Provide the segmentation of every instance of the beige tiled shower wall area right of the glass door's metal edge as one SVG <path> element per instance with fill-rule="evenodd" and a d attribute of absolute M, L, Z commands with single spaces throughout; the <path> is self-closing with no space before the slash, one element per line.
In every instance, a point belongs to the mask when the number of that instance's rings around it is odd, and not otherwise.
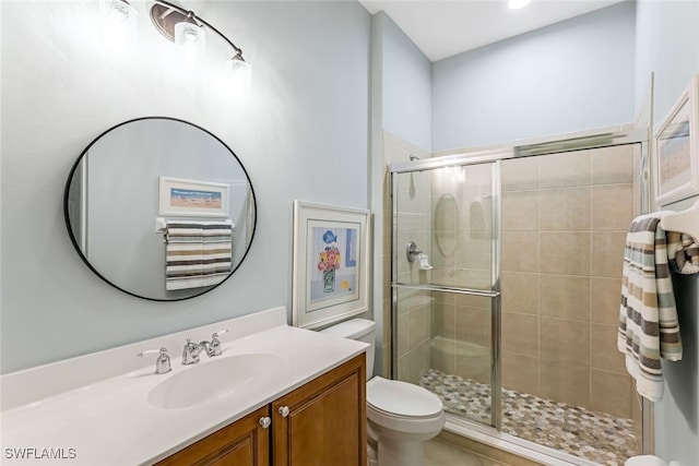
<path fill-rule="evenodd" d="M 502 163 L 503 387 L 624 418 L 636 410 L 616 350 L 633 147 Z"/>

